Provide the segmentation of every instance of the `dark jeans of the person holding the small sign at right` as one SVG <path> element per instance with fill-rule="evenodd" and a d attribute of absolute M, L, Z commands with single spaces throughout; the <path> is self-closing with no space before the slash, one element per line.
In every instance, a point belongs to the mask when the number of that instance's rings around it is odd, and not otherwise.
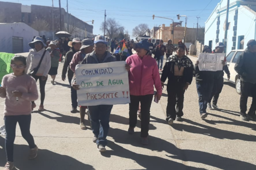
<path fill-rule="evenodd" d="M 200 115 L 206 114 L 207 103 L 210 99 L 214 82 L 209 81 L 196 81 L 197 93 L 199 97 L 199 111 Z"/>

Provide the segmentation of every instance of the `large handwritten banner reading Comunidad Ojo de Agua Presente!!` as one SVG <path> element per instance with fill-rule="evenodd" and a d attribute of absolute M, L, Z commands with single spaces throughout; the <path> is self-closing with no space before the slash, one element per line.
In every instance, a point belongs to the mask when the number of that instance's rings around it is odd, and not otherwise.
<path fill-rule="evenodd" d="M 76 66 L 78 105 L 113 105 L 130 103 L 128 72 L 125 61 Z"/>

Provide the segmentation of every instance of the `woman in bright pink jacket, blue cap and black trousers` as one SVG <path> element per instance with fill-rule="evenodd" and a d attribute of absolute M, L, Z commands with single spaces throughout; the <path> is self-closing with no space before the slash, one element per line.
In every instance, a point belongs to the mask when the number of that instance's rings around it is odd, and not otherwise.
<path fill-rule="evenodd" d="M 156 60 L 149 55 L 149 43 L 147 40 L 133 44 L 137 54 L 126 59 L 130 66 L 130 108 L 129 108 L 129 134 L 134 133 L 137 124 L 137 111 L 141 103 L 141 137 L 142 144 L 148 144 L 148 131 L 150 119 L 150 107 L 154 96 L 154 85 L 156 88 L 155 97 L 160 100 L 162 96 L 161 80 Z"/>

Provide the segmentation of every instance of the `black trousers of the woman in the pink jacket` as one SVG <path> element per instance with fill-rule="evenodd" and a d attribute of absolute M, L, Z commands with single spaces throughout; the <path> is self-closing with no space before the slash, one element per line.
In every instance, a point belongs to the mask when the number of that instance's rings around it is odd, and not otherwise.
<path fill-rule="evenodd" d="M 137 124 L 137 111 L 139 102 L 141 102 L 141 137 L 149 135 L 149 119 L 150 108 L 153 100 L 153 95 L 133 96 L 130 95 L 131 103 L 129 104 L 129 125 L 132 128 Z"/>

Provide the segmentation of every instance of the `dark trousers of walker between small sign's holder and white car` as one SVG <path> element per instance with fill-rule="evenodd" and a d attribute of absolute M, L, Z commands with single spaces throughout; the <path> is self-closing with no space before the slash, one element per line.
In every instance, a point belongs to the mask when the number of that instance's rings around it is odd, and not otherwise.
<path fill-rule="evenodd" d="M 224 85 L 223 77 L 214 79 L 214 87 L 212 88 L 211 96 L 208 103 L 211 103 L 211 99 L 213 98 L 212 104 L 217 105 L 218 97 L 220 97 L 220 93 L 222 91 L 223 85 Z"/>

